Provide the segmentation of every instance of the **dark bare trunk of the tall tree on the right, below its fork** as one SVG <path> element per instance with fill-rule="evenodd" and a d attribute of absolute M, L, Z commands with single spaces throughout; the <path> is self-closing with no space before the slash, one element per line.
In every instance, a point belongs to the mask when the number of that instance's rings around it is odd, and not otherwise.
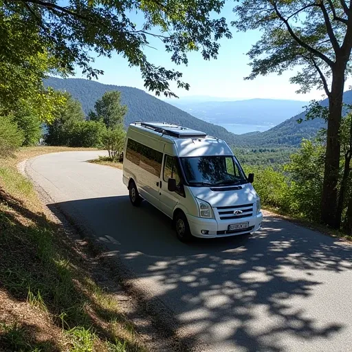
<path fill-rule="evenodd" d="M 331 94 L 329 96 L 329 120 L 327 122 L 327 152 L 325 157 L 324 183 L 322 186 L 323 223 L 338 228 L 337 198 L 338 178 L 340 167 L 340 140 L 339 130 L 342 116 L 342 96 L 344 91 L 344 71 L 346 63 L 338 63 L 333 68 Z"/>

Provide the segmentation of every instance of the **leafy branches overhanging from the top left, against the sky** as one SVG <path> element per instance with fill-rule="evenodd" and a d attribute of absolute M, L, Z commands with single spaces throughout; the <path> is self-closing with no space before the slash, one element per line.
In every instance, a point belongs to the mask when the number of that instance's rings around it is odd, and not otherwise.
<path fill-rule="evenodd" d="M 216 58 L 221 37 L 231 37 L 224 18 L 214 18 L 223 7 L 223 0 L 18 0 L 1 1 L 0 17 L 17 17 L 22 28 L 38 32 L 39 42 L 57 67 L 74 74 L 74 67 L 89 77 L 101 74 L 93 69 L 89 51 L 111 57 L 117 52 L 131 67 L 139 67 L 144 86 L 174 96 L 169 82 L 188 89 L 182 74 L 150 63 L 144 47 L 150 39 L 161 41 L 171 60 L 187 64 L 187 53 L 201 51 L 204 59 Z M 131 14 L 143 15 L 144 23 L 136 25 Z M 3 23 L 0 23 L 0 26 Z M 154 31 L 153 31 L 154 30 Z M 19 31 L 20 32 L 20 31 Z M 22 50 L 31 50 L 32 41 L 23 41 Z M 15 55 L 11 60 L 16 60 Z"/>

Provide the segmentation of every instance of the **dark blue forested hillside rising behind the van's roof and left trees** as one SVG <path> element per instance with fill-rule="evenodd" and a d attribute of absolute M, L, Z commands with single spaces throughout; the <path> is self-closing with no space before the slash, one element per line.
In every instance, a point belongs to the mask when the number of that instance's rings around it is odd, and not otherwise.
<path fill-rule="evenodd" d="M 134 121 L 164 121 L 174 124 L 181 124 L 190 129 L 197 129 L 214 135 L 229 143 L 234 143 L 236 135 L 226 131 L 223 127 L 199 120 L 194 116 L 159 100 L 145 91 L 132 87 L 120 87 L 116 85 L 103 85 L 93 80 L 80 78 L 48 78 L 45 85 L 54 89 L 69 91 L 70 94 L 78 99 L 85 113 L 94 109 L 94 103 L 100 99 L 106 91 L 121 91 L 122 104 L 129 108 L 125 116 L 125 124 Z"/>

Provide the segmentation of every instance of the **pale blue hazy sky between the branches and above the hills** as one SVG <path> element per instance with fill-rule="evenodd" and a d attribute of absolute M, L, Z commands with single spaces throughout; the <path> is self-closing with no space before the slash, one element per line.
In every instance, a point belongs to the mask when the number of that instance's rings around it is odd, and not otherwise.
<path fill-rule="evenodd" d="M 234 19 L 232 12 L 233 2 L 227 3 L 222 15 L 228 23 Z M 140 18 L 135 17 L 138 23 Z M 190 84 L 190 90 L 173 89 L 179 96 L 213 96 L 221 98 L 248 99 L 248 98 L 277 98 L 311 100 L 320 99 L 323 91 L 311 91 L 309 94 L 295 93 L 297 86 L 289 83 L 289 77 L 294 72 L 285 72 L 282 76 L 272 74 L 255 80 L 243 80 L 250 74 L 249 58 L 245 54 L 260 37 L 259 32 L 237 33 L 231 28 L 233 38 L 223 39 L 217 60 L 204 61 L 200 52 L 193 52 L 188 56 L 188 66 L 173 65 L 170 54 L 164 52 L 162 43 L 157 39 L 150 39 L 152 46 L 157 50 L 146 47 L 148 60 L 166 68 L 175 68 L 184 74 L 184 81 Z M 100 83 L 109 85 L 126 85 L 144 89 L 140 70 L 130 68 L 122 56 L 113 55 L 112 58 L 96 58 L 94 67 L 103 69 Z M 77 72 L 76 77 L 81 77 Z M 347 89 L 348 85 L 346 86 Z M 345 89 L 345 90 L 346 90 Z"/>

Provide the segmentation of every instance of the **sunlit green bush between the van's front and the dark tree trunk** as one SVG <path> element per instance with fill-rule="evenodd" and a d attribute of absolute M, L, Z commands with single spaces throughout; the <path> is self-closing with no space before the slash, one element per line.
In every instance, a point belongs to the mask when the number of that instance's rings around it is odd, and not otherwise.
<path fill-rule="evenodd" d="M 304 140 L 284 169 L 246 166 L 245 170 L 255 173 L 253 186 L 263 206 L 319 221 L 324 155 L 320 142 Z"/>

